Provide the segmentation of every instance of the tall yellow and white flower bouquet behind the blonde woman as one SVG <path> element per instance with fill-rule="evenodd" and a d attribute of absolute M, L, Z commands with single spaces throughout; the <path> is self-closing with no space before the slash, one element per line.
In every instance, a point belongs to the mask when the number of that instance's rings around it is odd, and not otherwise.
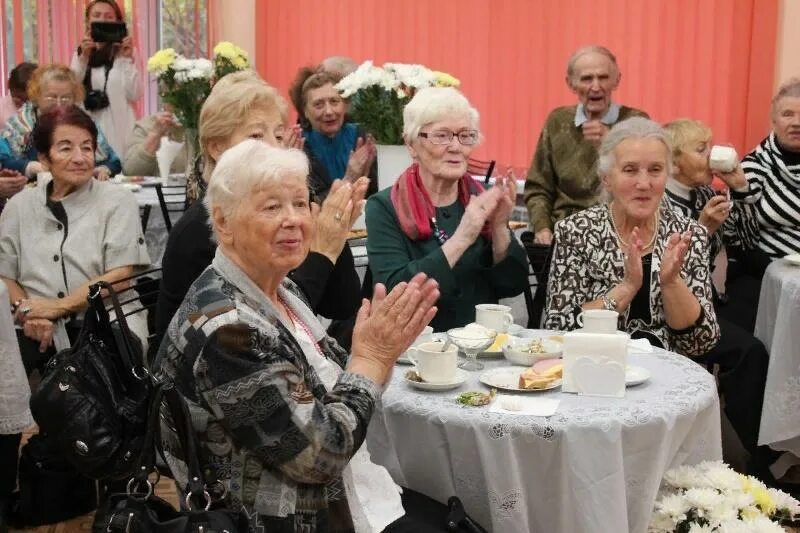
<path fill-rule="evenodd" d="M 231 72 L 249 67 L 247 53 L 233 43 L 222 41 L 214 47 L 211 60 L 189 59 L 172 48 L 159 50 L 147 61 L 147 70 L 158 80 L 161 100 L 172 107 L 184 129 L 186 143 L 186 198 L 192 202 L 202 195 L 200 109 L 213 83 Z"/>

